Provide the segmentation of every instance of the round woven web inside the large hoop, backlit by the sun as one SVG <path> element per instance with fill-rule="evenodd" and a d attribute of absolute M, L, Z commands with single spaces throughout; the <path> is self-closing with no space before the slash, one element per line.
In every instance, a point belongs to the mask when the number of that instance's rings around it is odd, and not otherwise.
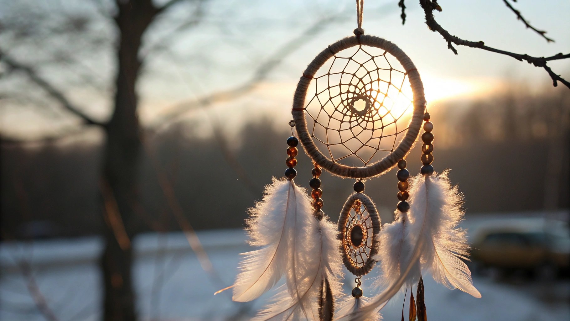
<path fill-rule="evenodd" d="M 331 57 L 311 80 L 305 110 L 315 145 L 334 162 L 367 166 L 392 152 L 408 130 L 412 90 L 404 67 L 376 47 Z"/>

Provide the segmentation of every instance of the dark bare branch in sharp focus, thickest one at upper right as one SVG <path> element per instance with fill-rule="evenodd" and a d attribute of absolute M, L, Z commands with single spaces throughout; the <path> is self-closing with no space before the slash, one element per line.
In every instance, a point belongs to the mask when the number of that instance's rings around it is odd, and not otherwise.
<path fill-rule="evenodd" d="M 550 78 L 552 78 L 552 84 L 554 87 L 558 86 L 557 82 L 561 82 L 566 87 L 570 88 L 570 82 L 568 82 L 567 80 L 564 80 L 560 75 L 555 74 L 555 72 L 553 72 L 551 70 L 551 68 L 547 66 L 548 61 L 567 59 L 567 58 L 570 58 L 570 54 L 562 54 L 560 52 L 559 54 L 549 56 L 546 58 L 545 57 L 534 57 L 534 56 L 530 56 L 527 54 L 516 54 L 514 52 L 488 47 L 488 46 L 485 46 L 485 43 L 482 41 L 474 42 L 474 41 L 464 40 L 464 39 L 461 39 L 457 36 L 451 35 L 447 30 L 443 29 L 443 27 L 440 26 L 439 23 L 437 23 L 435 21 L 435 18 L 433 17 L 433 10 L 437 10 L 437 7 L 438 7 L 437 2 L 430 1 L 430 0 L 420 0 L 420 5 L 424 9 L 426 24 L 429 27 L 429 29 L 431 31 L 438 32 L 440 35 L 442 35 L 443 39 L 445 39 L 447 41 L 447 48 L 449 48 L 451 51 L 453 51 L 454 54 L 457 55 L 457 50 L 455 49 L 455 47 L 453 47 L 453 44 L 457 44 L 459 46 L 479 48 L 479 49 L 486 50 L 486 51 L 496 52 L 497 54 L 511 56 L 512 58 L 515 58 L 516 60 L 526 61 L 530 64 L 533 64 L 536 67 L 544 68 L 544 70 L 546 72 L 548 72 L 548 75 L 550 76 Z"/>

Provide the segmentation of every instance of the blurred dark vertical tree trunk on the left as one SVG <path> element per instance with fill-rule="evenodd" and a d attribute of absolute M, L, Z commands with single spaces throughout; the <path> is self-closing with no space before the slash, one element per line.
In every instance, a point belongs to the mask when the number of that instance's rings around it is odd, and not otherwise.
<path fill-rule="evenodd" d="M 121 3 L 116 23 L 119 29 L 115 110 L 107 124 L 107 141 L 101 177 L 105 204 L 105 249 L 101 257 L 105 321 L 134 321 L 135 293 L 132 285 L 133 253 L 130 243 L 136 233 L 133 204 L 138 202 L 136 185 L 141 161 L 141 133 L 137 118 L 136 83 L 141 61 L 141 38 L 156 14 L 150 0 Z M 105 195 L 106 194 L 106 195 Z"/>

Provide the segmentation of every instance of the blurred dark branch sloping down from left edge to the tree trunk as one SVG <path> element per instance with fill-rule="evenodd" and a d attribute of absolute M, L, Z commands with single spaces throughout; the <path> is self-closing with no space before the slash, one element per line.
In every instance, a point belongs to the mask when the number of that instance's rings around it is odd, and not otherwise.
<path fill-rule="evenodd" d="M 72 104 L 71 101 L 68 100 L 67 97 L 63 94 L 63 92 L 59 91 L 57 88 L 55 88 L 45 79 L 43 79 L 40 75 L 38 75 L 38 73 L 33 68 L 17 62 L 16 60 L 10 58 L 10 56 L 6 55 L 6 53 L 3 51 L 0 51 L 0 56 L 2 57 L 2 60 L 8 66 L 10 66 L 10 68 L 24 72 L 32 80 L 32 82 L 36 83 L 39 87 L 42 87 L 43 90 L 45 90 L 48 94 L 50 94 L 51 97 L 59 101 L 59 103 L 62 104 L 64 108 L 73 113 L 75 116 L 78 116 L 81 119 L 83 119 L 85 124 L 99 125 L 101 127 L 105 126 L 104 123 L 92 119 L 86 113 L 81 111 L 80 108 Z"/>

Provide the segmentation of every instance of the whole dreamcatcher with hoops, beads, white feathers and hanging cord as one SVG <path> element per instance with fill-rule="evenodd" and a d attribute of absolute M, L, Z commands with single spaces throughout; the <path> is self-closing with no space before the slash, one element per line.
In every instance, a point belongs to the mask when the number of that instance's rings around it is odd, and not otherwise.
<path fill-rule="evenodd" d="M 244 254 L 233 300 L 253 300 L 283 275 L 286 281 L 254 320 L 378 320 L 378 311 L 404 286 L 417 287 L 410 319 L 425 320 L 425 272 L 450 289 L 481 296 L 462 261 L 468 250 L 465 233 L 456 228 L 462 197 L 447 171 L 435 173 L 431 165 L 433 124 L 420 74 L 395 44 L 364 34 L 363 0 L 356 3 L 355 35 L 321 51 L 299 80 L 290 121 L 298 137 L 287 139 L 285 177 L 274 178 L 250 210 L 250 244 L 260 249 Z M 422 124 L 423 165 L 410 178 L 405 156 Z M 314 163 L 311 197 L 294 182 L 299 142 Z M 394 222 L 381 229 L 364 180 L 394 166 L 399 202 Z M 322 169 L 356 179 L 336 226 L 322 209 Z M 367 298 L 361 277 L 377 262 L 384 289 Z M 356 286 L 339 300 L 343 263 Z"/>

